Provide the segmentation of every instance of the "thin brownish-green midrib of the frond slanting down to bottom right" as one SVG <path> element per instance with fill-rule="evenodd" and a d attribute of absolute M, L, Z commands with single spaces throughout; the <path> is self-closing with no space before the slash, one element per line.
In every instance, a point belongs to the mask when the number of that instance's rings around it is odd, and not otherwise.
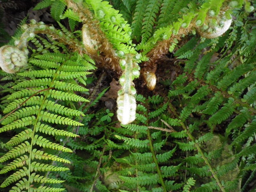
<path fill-rule="evenodd" d="M 177 114 L 176 110 L 174 109 L 174 107 L 172 106 L 172 104 L 169 102 L 169 107 L 171 108 L 172 112 L 174 113 L 174 115 L 179 118 L 179 115 Z M 210 172 L 212 173 L 213 178 L 216 180 L 217 185 L 220 187 L 220 190 L 222 192 L 225 192 L 224 187 L 221 185 L 219 178 L 217 177 L 216 173 L 213 171 L 212 166 L 210 165 L 210 163 L 208 162 L 207 158 L 204 156 L 204 152 L 202 151 L 202 149 L 200 148 L 200 146 L 198 145 L 198 143 L 196 143 L 195 138 L 193 137 L 193 135 L 189 132 L 189 130 L 187 129 L 186 125 L 181 121 L 180 125 L 182 126 L 182 128 L 184 130 L 187 131 L 188 137 L 195 143 L 195 147 L 197 149 L 197 151 L 201 154 L 202 158 L 204 159 L 204 163 L 209 167 Z"/>

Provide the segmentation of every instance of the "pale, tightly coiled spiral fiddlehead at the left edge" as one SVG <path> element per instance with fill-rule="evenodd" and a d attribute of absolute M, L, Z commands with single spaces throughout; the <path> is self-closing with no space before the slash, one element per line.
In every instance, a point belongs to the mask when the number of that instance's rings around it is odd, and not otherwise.
<path fill-rule="evenodd" d="M 0 67 L 6 73 L 17 73 L 27 65 L 28 55 L 11 45 L 0 48 Z"/>

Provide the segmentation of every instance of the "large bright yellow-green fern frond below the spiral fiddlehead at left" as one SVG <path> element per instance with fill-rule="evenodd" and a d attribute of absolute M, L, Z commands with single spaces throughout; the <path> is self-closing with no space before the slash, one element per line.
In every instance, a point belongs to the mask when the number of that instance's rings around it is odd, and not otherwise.
<path fill-rule="evenodd" d="M 40 43 L 36 42 L 36 44 L 39 45 Z M 47 44 L 40 44 L 40 47 L 41 46 L 43 46 L 44 48 L 44 46 L 47 47 Z M 72 56 L 69 55 L 69 57 L 72 58 L 73 62 L 76 62 L 76 60 L 79 59 L 79 57 L 81 56 L 73 54 Z M 46 139 L 45 135 L 78 137 L 77 134 L 64 130 L 59 130 L 53 128 L 52 126 L 81 126 L 83 125 L 82 123 L 72 120 L 71 118 L 73 116 L 84 116 L 84 114 L 78 110 L 70 108 L 70 106 L 68 106 L 65 102 L 62 104 L 57 104 L 55 103 L 55 101 L 53 101 L 53 99 L 57 98 L 60 101 L 88 101 L 83 97 L 74 94 L 74 91 L 87 92 L 88 89 L 82 87 L 81 85 L 78 85 L 73 79 L 79 76 L 88 75 L 89 72 L 87 72 L 86 62 L 84 62 L 84 64 L 78 66 L 84 67 L 84 72 L 80 72 L 80 75 L 76 74 L 74 76 L 74 72 L 64 72 L 64 74 L 63 72 L 60 73 L 60 68 L 68 65 L 69 62 L 66 62 L 63 59 L 60 60 L 59 58 L 68 59 L 68 54 L 67 56 L 64 56 L 60 53 L 52 54 L 48 52 L 48 55 L 44 55 L 41 60 L 33 60 L 33 58 L 31 58 L 31 61 L 33 61 L 31 62 L 31 64 L 40 63 L 43 65 L 43 63 L 49 61 L 47 58 L 50 59 L 53 63 L 60 62 L 59 66 L 56 66 L 57 70 L 53 69 L 54 65 L 53 68 L 50 68 L 50 66 L 45 66 L 45 68 L 47 68 L 45 70 L 41 70 L 40 68 L 38 68 L 37 65 L 31 66 L 35 68 L 33 73 L 23 72 L 20 74 L 21 78 L 22 76 L 26 76 L 31 79 L 15 84 L 12 87 L 14 92 L 8 98 L 10 104 L 6 108 L 8 110 L 5 110 L 6 113 L 13 109 L 20 109 L 5 117 L 4 121 L 2 121 L 2 124 L 4 124 L 4 126 L 0 128 L 1 132 L 19 129 L 23 129 L 24 131 L 18 132 L 19 134 L 15 135 L 11 138 L 9 142 L 7 142 L 7 145 L 13 146 L 13 149 L 0 158 L 1 162 L 8 161 L 10 159 L 14 159 L 14 161 L 7 165 L 2 170 L 2 173 L 15 170 L 16 168 L 19 168 L 21 164 L 22 169 L 10 175 L 2 183 L 1 187 L 7 187 L 12 183 L 17 183 L 16 187 L 13 187 L 12 190 L 22 190 L 24 186 L 26 186 L 28 191 L 35 190 L 35 188 L 37 188 L 36 190 L 41 190 L 40 183 L 62 183 L 63 180 L 40 176 L 37 175 L 36 172 L 60 172 L 68 170 L 68 168 L 65 167 L 44 164 L 37 161 L 43 158 L 52 161 L 70 163 L 70 161 L 63 158 L 44 153 L 40 150 L 40 148 L 49 148 L 57 151 L 72 152 L 71 149 L 63 147 L 60 144 L 51 142 L 50 140 Z M 73 68 L 75 69 L 76 67 L 73 66 Z M 44 87 L 44 91 L 41 91 L 42 88 L 40 89 L 40 87 Z M 29 92 L 26 92 L 26 90 L 34 90 L 34 92 L 32 92 L 31 94 Z M 33 94 L 37 94 L 37 96 L 33 96 Z M 22 97 L 24 97 L 24 99 L 20 99 Z M 27 107 L 24 107 L 23 104 L 25 104 L 25 106 Z M 42 155 L 44 157 L 42 157 Z M 28 180 L 26 180 L 26 177 L 28 177 Z M 30 187 L 33 186 L 32 183 L 34 185 L 33 188 Z M 50 189 L 44 187 L 44 190 L 60 191 L 62 189 Z"/>

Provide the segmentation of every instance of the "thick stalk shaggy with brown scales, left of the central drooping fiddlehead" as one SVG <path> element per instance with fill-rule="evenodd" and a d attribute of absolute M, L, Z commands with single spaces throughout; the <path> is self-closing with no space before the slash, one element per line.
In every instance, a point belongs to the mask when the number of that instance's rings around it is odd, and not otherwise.
<path fill-rule="evenodd" d="M 108 41 L 103 31 L 100 29 L 99 21 L 93 20 L 92 12 L 85 8 L 82 4 L 76 4 L 71 0 L 65 0 L 68 8 L 71 8 L 79 15 L 83 21 L 84 28 L 92 41 L 96 42 L 95 50 L 88 49 L 86 53 L 95 60 L 100 67 L 109 68 L 117 74 L 121 74 L 119 58 L 115 56 L 115 50 L 112 44 Z M 100 52 L 100 56 L 97 54 Z"/>

